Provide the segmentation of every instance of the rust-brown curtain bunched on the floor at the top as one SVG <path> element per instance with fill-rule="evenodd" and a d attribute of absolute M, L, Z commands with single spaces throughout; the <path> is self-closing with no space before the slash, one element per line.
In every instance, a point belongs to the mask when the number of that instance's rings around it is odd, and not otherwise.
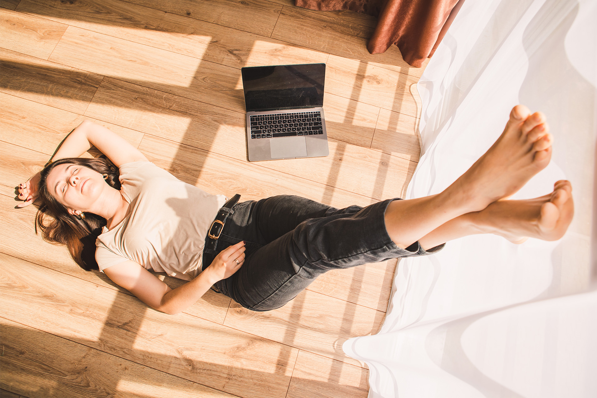
<path fill-rule="evenodd" d="M 398 46 L 410 66 L 431 57 L 464 0 L 296 0 L 311 10 L 352 10 L 378 17 L 367 44 L 371 54 Z"/>

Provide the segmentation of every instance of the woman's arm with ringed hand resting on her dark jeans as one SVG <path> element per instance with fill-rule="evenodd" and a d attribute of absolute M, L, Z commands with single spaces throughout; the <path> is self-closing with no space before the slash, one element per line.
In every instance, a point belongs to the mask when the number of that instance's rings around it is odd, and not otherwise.
<path fill-rule="evenodd" d="M 108 267 L 104 273 L 148 306 L 167 314 L 177 314 L 195 304 L 214 283 L 235 273 L 245 261 L 244 252 L 244 242 L 224 249 L 199 276 L 176 289 L 171 289 L 134 261 Z"/>

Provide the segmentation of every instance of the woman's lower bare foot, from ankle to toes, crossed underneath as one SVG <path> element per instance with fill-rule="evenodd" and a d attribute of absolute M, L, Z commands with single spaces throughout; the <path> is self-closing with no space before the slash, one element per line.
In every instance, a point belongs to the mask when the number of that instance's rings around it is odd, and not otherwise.
<path fill-rule="evenodd" d="M 574 215 L 572 186 L 561 180 L 553 192 L 527 200 L 498 200 L 478 213 L 478 226 L 485 233 L 494 233 L 513 243 L 527 237 L 558 240 L 568 229 Z"/>

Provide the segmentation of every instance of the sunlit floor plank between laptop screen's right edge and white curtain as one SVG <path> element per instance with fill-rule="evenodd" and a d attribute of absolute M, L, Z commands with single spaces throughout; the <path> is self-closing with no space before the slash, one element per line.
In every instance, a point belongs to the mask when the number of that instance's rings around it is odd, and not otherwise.
<path fill-rule="evenodd" d="M 405 73 L 330 55 L 325 90 L 343 92 L 352 100 L 418 118 L 420 107 L 410 92 L 410 86 L 417 81 Z"/>

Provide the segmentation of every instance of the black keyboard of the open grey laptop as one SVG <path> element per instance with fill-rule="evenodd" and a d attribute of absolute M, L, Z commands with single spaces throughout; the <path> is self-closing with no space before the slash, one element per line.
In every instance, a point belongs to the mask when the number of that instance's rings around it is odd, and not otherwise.
<path fill-rule="evenodd" d="M 319 111 L 251 115 L 251 138 L 317 134 L 324 134 Z"/>

